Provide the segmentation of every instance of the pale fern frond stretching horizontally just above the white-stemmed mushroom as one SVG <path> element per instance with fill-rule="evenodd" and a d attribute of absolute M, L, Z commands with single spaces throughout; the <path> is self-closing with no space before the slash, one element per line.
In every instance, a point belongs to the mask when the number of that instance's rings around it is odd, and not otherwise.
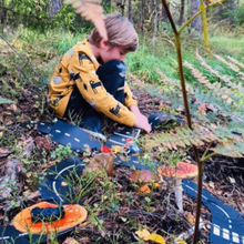
<path fill-rule="evenodd" d="M 145 138 L 145 146 L 148 150 L 156 148 L 167 148 L 170 150 L 179 150 L 179 148 L 190 148 L 191 145 L 204 146 L 210 143 L 216 146 L 209 149 L 217 154 L 243 157 L 244 143 L 243 138 L 235 135 L 232 130 L 226 130 L 221 125 L 209 125 L 203 128 L 196 125 L 194 131 L 187 126 L 179 126 L 169 132 L 161 132 L 157 135 Z"/>

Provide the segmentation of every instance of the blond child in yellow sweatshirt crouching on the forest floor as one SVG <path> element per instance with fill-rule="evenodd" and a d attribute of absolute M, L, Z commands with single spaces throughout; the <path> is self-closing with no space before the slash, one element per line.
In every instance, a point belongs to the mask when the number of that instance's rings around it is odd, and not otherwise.
<path fill-rule="evenodd" d="M 125 82 L 124 58 L 138 48 L 132 23 L 121 14 L 105 18 L 108 41 L 94 28 L 58 64 L 50 83 L 50 106 L 62 118 L 81 118 L 80 126 L 101 135 L 103 114 L 150 133 L 151 125 Z"/>

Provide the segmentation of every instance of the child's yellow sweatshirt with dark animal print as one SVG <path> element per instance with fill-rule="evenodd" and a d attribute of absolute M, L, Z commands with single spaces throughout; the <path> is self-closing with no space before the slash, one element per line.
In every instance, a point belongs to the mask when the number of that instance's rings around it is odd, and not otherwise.
<path fill-rule="evenodd" d="M 119 123 L 132 126 L 135 115 L 128 108 L 138 104 L 138 101 L 133 99 L 126 82 L 124 85 L 125 105 L 109 94 L 95 73 L 99 65 L 89 42 L 87 40 L 78 42 L 63 55 L 51 78 L 50 106 L 58 115 L 63 116 L 73 87 L 77 85 L 82 96 L 96 111 Z"/>

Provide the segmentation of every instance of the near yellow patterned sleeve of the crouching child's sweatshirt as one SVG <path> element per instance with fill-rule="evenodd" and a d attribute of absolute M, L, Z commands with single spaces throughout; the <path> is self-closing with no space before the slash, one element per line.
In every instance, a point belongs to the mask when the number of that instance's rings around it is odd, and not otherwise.
<path fill-rule="evenodd" d="M 95 67 L 91 57 L 89 58 L 82 54 L 82 52 L 74 52 L 69 61 L 68 70 L 82 96 L 91 106 L 119 123 L 133 126 L 135 115 L 106 92 L 95 73 Z M 130 89 L 126 88 L 126 91 L 130 98 L 125 103 L 128 105 L 133 102 Z"/>

